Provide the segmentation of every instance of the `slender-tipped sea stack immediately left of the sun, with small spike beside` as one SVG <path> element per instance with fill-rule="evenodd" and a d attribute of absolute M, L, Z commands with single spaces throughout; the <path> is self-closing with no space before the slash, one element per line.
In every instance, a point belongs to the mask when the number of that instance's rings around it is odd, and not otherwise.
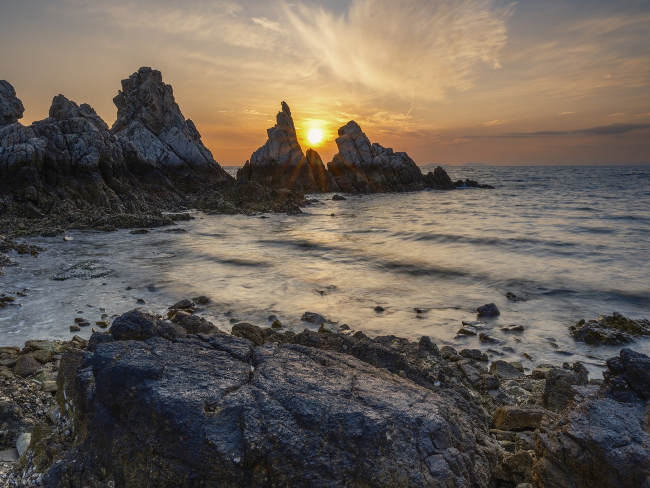
<path fill-rule="evenodd" d="M 277 124 L 266 131 L 266 143 L 237 171 L 237 180 L 303 193 L 334 191 L 333 178 L 318 153 L 309 149 L 307 156 L 303 154 L 287 103 L 282 102 L 276 121 Z"/>

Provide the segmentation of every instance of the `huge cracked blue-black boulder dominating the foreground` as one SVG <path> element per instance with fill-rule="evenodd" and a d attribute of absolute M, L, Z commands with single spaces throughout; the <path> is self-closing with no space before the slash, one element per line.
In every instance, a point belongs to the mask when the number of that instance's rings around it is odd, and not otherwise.
<path fill-rule="evenodd" d="M 489 439 L 453 396 L 350 355 L 154 336 L 97 344 L 59 383 L 76 441 L 45 485 L 493 484 Z"/>

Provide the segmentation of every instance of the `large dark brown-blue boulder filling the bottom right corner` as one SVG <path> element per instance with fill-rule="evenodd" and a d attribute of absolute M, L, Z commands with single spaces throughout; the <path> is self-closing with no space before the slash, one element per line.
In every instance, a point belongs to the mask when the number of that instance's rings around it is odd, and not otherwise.
<path fill-rule="evenodd" d="M 646 487 L 650 483 L 650 358 L 630 349 L 608 360 L 603 386 L 575 386 L 570 408 L 540 433 L 539 488 Z"/>

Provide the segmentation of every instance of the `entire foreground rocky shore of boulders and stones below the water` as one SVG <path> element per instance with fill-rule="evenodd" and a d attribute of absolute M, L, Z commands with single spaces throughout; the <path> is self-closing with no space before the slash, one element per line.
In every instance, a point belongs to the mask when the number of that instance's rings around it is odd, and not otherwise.
<path fill-rule="evenodd" d="M 3 486 L 650 483 L 647 355 L 621 349 L 590 379 L 313 312 L 298 334 L 277 319 L 227 334 L 208 301 L 0 348 Z"/>

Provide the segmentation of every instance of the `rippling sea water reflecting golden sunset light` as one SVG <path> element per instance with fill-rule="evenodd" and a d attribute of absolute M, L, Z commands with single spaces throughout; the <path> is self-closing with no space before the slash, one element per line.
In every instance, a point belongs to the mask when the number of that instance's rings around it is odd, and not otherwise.
<path fill-rule="evenodd" d="M 47 251 L 14 256 L 21 267 L 0 277 L 1 291 L 29 290 L 23 306 L 0 310 L 0 343 L 69 338 L 75 316 L 94 323 L 99 308 L 112 316 L 137 299 L 162 313 L 207 295 L 213 303 L 201 314 L 226 331 L 238 320 L 267 327 L 270 314 L 294 331 L 316 329 L 300 320 L 309 310 L 369 336 L 426 334 L 438 346 L 480 347 L 526 368 L 580 360 L 598 376 L 620 347 L 577 343 L 569 326 L 614 311 L 650 318 L 650 167 L 447 170 L 496 189 L 314 195 L 320 202 L 303 215 L 196 213 L 179 223 L 185 234 L 28 239 Z M 85 260 L 113 273 L 49 279 Z M 509 301 L 508 291 L 525 300 Z M 476 307 L 490 302 L 501 315 L 486 319 L 489 334 L 504 344 L 456 337 L 461 320 L 476 320 Z M 500 331 L 513 324 L 525 331 Z M 650 354 L 649 340 L 630 347 Z"/>

